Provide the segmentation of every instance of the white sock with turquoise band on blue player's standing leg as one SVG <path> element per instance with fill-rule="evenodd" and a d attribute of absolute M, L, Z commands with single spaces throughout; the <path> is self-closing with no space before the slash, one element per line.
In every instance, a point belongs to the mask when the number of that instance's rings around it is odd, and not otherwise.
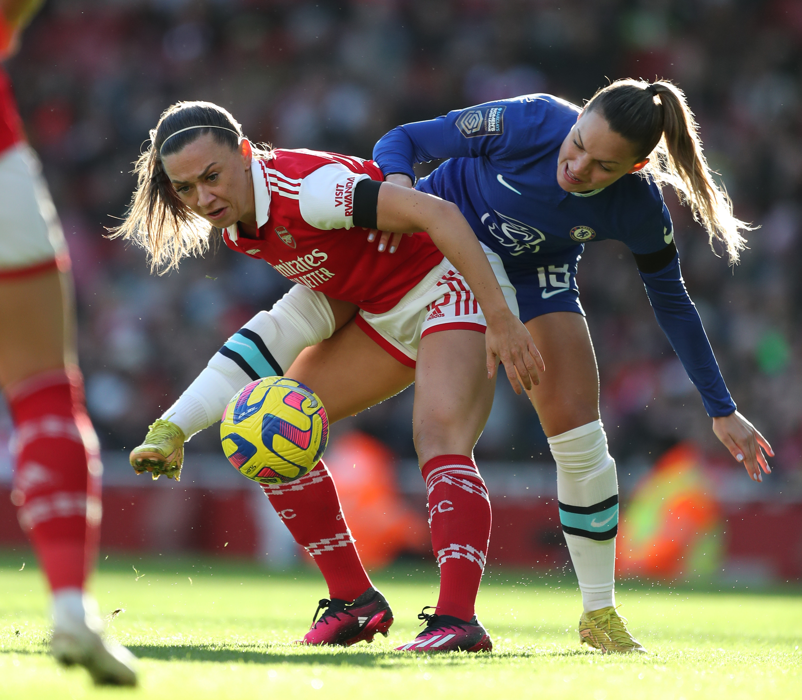
<path fill-rule="evenodd" d="M 565 543 L 585 612 L 615 604 L 618 479 L 602 421 L 549 437 Z"/>

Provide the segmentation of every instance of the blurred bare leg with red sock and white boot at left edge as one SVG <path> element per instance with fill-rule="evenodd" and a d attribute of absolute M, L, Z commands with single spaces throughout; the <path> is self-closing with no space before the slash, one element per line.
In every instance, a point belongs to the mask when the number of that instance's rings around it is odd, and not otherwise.
<path fill-rule="evenodd" d="M 12 499 L 53 592 L 52 652 L 86 666 L 95 682 L 133 685 L 131 653 L 101 639 L 97 606 L 83 592 L 99 538 L 102 468 L 75 364 L 69 275 L 0 273 L 0 319 L 0 385 L 18 432 Z"/>

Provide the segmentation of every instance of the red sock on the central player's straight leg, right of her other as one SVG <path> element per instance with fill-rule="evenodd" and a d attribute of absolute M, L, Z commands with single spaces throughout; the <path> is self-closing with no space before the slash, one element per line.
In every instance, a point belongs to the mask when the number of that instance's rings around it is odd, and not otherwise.
<path fill-rule="evenodd" d="M 476 464 L 441 454 L 423 465 L 431 546 L 440 568 L 438 615 L 469 621 L 490 540 L 490 499 Z"/>

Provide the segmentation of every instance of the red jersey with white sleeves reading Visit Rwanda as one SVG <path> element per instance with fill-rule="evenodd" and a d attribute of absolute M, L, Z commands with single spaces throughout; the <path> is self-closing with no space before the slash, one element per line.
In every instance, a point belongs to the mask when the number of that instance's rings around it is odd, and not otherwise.
<path fill-rule="evenodd" d="M 428 234 L 404 238 L 387 254 L 367 241 L 367 229 L 354 226 L 356 184 L 384 180 L 373 161 L 306 149 L 270 155 L 251 164 L 258 238 L 229 226 L 223 234 L 229 248 L 373 314 L 390 311 L 443 260 Z"/>

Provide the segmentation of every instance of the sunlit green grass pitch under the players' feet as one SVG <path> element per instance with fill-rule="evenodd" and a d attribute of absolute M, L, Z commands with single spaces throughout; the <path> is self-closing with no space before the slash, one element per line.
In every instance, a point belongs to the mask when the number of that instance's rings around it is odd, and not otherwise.
<path fill-rule="evenodd" d="M 92 588 L 104 613 L 124 608 L 110 633 L 140 657 L 141 683 L 99 690 L 83 669 L 61 669 L 47 656 L 42 576 L 30 554 L 7 554 L 0 557 L 0 698 L 802 696 L 798 588 L 690 591 L 625 582 L 621 612 L 650 653 L 602 656 L 577 642 L 575 581 L 489 569 L 478 610 L 493 653 L 437 655 L 392 651 L 417 632 L 420 608 L 435 603 L 435 569 L 399 566 L 375 582 L 395 612 L 389 639 L 298 648 L 292 642 L 326 594 L 313 572 L 111 555 Z"/>

